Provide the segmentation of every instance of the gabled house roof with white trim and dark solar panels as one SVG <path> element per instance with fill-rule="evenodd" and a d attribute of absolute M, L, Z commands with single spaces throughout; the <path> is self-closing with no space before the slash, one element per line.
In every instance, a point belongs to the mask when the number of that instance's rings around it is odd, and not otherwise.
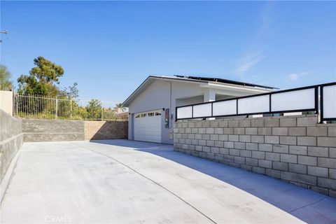
<path fill-rule="evenodd" d="M 266 90 L 274 90 L 277 89 L 276 87 L 270 87 L 266 85 L 257 85 L 253 83 L 243 83 L 235 80 L 228 80 L 224 78 L 207 78 L 207 77 L 198 77 L 198 76 L 148 76 L 146 80 L 144 80 L 139 87 L 137 87 L 134 92 L 128 97 L 125 102 L 123 102 L 123 106 L 127 107 L 130 106 L 131 102 L 144 90 L 146 90 L 146 87 L 148 85 L 151 85 L 154 80 L 157 79 L 164 79 L 164 80 L 175 80 L 175 81 L 181 81 L 181 82 L 196 82 L 196 83 L 215 83 L 218 85 L 239 85 L 239 86 L 245 86 L 245 87 L 255 87 L 255 88 L 262 88 Z"/>

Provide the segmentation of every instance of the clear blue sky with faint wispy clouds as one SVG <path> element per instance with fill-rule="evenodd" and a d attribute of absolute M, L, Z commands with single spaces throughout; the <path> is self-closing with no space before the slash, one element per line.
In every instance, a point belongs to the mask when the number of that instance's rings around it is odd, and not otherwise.
<path fill-rule="evenodd" d="M 122 102 L 151 74 L 286 89 L 336 80 L 335 1 L 1 1 L 1 64 L 63 66 L 61 86 Z"/>

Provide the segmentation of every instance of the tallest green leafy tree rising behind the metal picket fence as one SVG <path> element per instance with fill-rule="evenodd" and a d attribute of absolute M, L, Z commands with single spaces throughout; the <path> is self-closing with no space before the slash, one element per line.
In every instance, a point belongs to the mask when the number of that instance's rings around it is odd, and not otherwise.
<path fill-rule="evenodd" d="M 22 94 L 53 95 L 59 94 L 59 77 L 63 76 L 62 66 L 50 62 L 44 57 L 34 59 L 34 68 L 29 75 L 21 75 L 18 78 L 19 92 Z"/>

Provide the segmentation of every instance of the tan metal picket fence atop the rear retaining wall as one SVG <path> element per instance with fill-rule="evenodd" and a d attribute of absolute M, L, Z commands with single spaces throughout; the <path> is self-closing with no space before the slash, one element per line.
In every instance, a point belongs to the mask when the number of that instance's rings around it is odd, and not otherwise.
<path fill-rule="evenodd" d="M 35 119 L 63 120 L 128 120 L 128 110 L 119 102 L 99 99 L 71 99 L 15 93 L 15 116 Z"/>

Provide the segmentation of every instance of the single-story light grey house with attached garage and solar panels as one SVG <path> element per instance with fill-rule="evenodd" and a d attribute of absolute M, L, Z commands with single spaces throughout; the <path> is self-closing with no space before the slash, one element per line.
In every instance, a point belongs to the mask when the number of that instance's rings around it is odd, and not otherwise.
<path fill-rule="evenodd" d="M 173 144 L 175 107 L 270 92 L 274 87 L 223 78 L 148 76 L 128 97 L 128 138 Z"/>

